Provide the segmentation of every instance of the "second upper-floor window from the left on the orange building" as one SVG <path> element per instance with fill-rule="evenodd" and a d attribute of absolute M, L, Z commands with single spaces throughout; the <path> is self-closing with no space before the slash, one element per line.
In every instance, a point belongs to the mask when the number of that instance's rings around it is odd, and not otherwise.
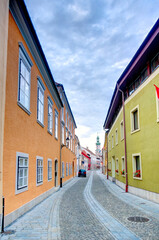
<path fill-rule="evenodd" d="M 41 79 L 38 77 L 38 92 L 37 92 L 37 120 L 38 123 L 44 124 L 44 91 L 45 87 Z"/>

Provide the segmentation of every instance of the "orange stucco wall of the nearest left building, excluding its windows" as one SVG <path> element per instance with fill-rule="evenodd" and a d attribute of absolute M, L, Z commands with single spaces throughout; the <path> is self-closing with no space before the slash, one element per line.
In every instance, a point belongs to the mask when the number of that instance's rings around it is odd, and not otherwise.
<path fill-rule="evenodd" d="M 22 42 L 33 66 L 31 68 L 30 112 L 28 115 L 17 104 L 19 42 Z M 37 76 L 45 85 L 44 92 L 44 127 L 37 123 Z M 9 14 L 8 59 L 6 82 L 6 112 L 4 128 L 4 197 L 5 215 L 20 208 L 27 202 L 55 186 L 54 162 L 58 160 L 58 180 L 60 176 L 60 110 L 53 101 L 53 134 L 47 131 L 48 99 L 51 94 L 41 73 L 11 15 Z M 54 137 L 54 110 L 58 117 L 58 140 Z M 28 190 L 16 194 L 16 153 L 29 154 Z M 36 157 L 43 157 L 43 184 L 36 186 Z M 52 180 L 48 181 L 48 158 L 52 160 Z M 59 181 L 58 181 L 59 185 Z"/>

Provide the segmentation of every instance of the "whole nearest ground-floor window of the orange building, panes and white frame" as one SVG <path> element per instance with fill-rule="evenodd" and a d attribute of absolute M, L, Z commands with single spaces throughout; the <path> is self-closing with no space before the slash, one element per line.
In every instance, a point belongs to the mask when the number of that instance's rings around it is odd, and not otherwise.
<path fill-rule="evenodd" d="M 28 189 L 28 163 L 28 154 L 17 153 L 16 193 L 24 192 Z"/>

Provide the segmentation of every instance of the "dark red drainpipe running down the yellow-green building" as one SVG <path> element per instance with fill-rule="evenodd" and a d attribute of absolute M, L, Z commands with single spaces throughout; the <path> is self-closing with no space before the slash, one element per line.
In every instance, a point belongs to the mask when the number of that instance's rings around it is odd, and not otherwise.
<path fill-rule="evenodd" d="M 122 93 L 122 105 L 123 105 L 123 123 L 124 123 L 124 149 L 125 149 L 125 174 L 126 174 L 126 186 L 125 192 L 128 192 L 128 171 L 127 171 L 127 148 L 126 148 L 126 126 L 125 126 L 125 103 L 124 103 L 124 92 L 119 88 L 118 90 Z"/>

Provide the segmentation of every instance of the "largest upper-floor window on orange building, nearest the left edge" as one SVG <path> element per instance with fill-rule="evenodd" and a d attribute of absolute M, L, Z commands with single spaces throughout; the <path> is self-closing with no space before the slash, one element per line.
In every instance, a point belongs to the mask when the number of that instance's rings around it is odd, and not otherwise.
<path fill-rule="evenodd" d="M 22 43 L 19 43 L 18 104 L 30 114 L 30 79 L 32 62 Z"/>

